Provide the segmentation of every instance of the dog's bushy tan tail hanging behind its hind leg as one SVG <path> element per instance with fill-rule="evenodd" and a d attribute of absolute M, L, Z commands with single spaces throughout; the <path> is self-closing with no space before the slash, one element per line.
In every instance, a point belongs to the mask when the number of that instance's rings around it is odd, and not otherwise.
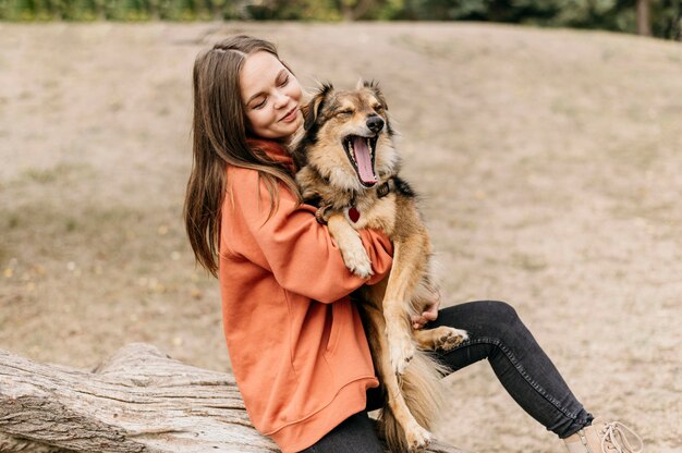
<path fill-rule="evenodd" d="M 417 423 L 431 430 L 442 407 L 442 377 L 447 367 L 424 351 L 417 351 L 400 378 L 405 403 Z M 390 406 L 381 409 L 379 426 L 391 452 L 407 452 L 405 432 Z"/>

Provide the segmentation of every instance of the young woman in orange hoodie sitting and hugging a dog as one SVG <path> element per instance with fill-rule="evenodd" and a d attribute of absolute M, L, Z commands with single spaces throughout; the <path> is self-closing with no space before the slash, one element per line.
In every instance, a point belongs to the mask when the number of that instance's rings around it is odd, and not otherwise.
<path fill-rule="evenodd" d="M 367 417 L 382 405 L 379 382 L 349 294 L 388 274 L 392 245 L 380 232 L 360 232 L 374 269 L 363 280 L 345 268 L 315 208 L 301 203 L 287 146 L 302 124 L 302 100 L 270 42 L 236 36 L 197 56 L 186 229 L 197 261 L 219 278 L 232 369 L 254 426 L 285 453 L 381 452 Z M 468 332 L 437 354 L 449 369 L 488 359 L 569 452 L 641 451 L 621 424 L 583 408 L 508 304 L 438 308 L 436 299 L 413 321 Z"/>

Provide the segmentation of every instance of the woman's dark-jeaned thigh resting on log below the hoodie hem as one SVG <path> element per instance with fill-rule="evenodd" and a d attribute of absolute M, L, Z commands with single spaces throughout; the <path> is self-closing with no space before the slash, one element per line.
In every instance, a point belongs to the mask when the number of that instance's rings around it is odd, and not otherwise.
<path fill-rule="evenodd" d="M 366 412 L 350 416 L 301 453 L 383 453 Z"/>

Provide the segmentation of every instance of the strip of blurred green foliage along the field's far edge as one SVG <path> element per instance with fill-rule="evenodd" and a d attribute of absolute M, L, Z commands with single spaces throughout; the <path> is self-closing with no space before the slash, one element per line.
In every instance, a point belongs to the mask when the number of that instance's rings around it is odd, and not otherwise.
<path fill-rule="evenodd" d="M 0 0 L 4 21 L 490 21 L 634 33 L 636 0 Z M 680 39 L 682 0 L 650 0 L 655 36 Z"/>

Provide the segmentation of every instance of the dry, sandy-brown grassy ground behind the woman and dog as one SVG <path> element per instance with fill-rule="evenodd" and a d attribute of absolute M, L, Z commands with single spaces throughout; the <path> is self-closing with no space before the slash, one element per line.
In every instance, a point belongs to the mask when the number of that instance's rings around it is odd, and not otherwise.
<path fill-rule="evenodd" d="M 191 69 L 275 40 L 305 86 L 381 82 L 448 304 L 512 303 L 576 395 L 682 451 L 682 47 L 479 24 L 0 24 L 0 347 L 90 368 L 133 341 L 230 367 L 181 221 Z M 437 434 L 560 452 L 487 363 Z"/>

